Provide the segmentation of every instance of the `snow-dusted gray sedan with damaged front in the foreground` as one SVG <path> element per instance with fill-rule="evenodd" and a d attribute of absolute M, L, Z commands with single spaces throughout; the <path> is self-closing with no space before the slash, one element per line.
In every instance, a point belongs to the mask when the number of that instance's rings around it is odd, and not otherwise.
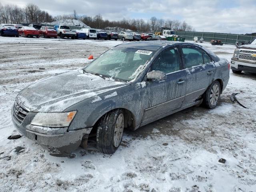
<path fill-rule="evenodd" d="M 228 84 L 230 64 L 184 42 L 131 42 L 88 66 L 34 82 L 16 97 L 12 120 L 20 133 L 68 156 L 88 138 L 114 153 L 124 129 L 204 104 L 214 108 Z"/>

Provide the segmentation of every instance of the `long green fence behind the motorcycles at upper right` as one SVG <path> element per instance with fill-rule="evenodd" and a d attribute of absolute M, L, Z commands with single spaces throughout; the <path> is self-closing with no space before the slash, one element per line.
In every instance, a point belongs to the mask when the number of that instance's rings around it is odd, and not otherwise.
<path fill-rule="evenodd" d="M 248 44 L 252 41 L 255 36 L 239 35 L 239 34 L 228 34 L 228 33 L 211 33 L 211 32 L 186 32 L 186 31 L 176 31 L 176 35 L 185 37 L 186 40 L 193 40 L 194 37 L 204 38 L 204 41 L 210 42 L 211 40 L 221 40 L 224 44 L 239 44 L 244 42 Z"/>

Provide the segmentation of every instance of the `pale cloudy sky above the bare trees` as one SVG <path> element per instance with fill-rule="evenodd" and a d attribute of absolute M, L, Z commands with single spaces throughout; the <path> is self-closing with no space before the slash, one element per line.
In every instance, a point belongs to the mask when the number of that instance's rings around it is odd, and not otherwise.
<path fill-rule="evenodd" d="M 34 3 L 53 16 L 72 14 L 121 20 L 152 16 L 186 21 L 196 31 L 245 34 L 256 32 L 256 0 L 0 0 L 24 7 Z"/>

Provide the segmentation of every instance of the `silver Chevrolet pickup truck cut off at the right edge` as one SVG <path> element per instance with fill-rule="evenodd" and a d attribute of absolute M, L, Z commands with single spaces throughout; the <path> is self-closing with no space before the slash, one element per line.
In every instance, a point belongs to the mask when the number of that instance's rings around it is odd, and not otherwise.
<path fill-rule="evenodd" d="M 256 38 L 248 45 L 238 46 L 231 59 L 233 73 L 242 71 L 256 73 Z"/>

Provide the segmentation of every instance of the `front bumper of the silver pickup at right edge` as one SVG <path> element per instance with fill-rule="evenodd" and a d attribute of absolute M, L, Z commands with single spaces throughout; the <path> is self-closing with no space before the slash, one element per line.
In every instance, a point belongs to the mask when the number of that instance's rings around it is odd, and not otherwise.
<path fill-rule="evenodd" d="M 255 62 L 244 62 L 244 61 L 240 61 L 240 60 L 232 58 L 231 59 L 231 69 L 256 73 L 256 63 Z"/>

